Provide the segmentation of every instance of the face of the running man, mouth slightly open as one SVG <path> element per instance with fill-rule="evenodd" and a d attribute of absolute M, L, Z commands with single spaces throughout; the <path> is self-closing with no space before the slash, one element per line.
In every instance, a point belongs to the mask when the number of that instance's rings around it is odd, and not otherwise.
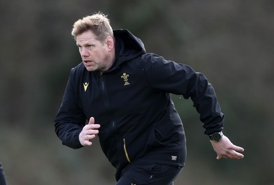
<path fill-rule="evenodd" d="M 114 49 L 113 39 L 109 36 L 103 42 L 97 40 L 92 31 L 84 32 L 76 37 L 76 45 L 82 57 L 84 66 L 88 71 L 106 71 L 114 62 L 112 50 Z"/>

